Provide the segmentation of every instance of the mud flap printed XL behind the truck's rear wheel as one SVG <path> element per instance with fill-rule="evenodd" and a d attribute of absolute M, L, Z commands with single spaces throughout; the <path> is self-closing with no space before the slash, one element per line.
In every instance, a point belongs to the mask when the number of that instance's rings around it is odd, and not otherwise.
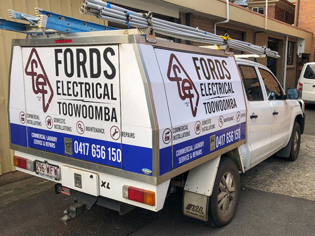
<path fill-rule="evenodd" d="M 189 217 L 208 221 L 209 196 L 184 191 L 183 214 Z"/>

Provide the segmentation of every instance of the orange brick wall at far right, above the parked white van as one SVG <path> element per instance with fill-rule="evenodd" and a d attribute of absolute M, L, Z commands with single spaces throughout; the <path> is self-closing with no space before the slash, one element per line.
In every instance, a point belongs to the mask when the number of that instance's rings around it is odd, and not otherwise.
<path fill-rule="evenodd" d="M 300 0 L 298 13 L 298 27 L 315 32 L 315 3 L 314 0 Z M 314 61 L 315 38 L 313 35 L 310 61 Z"/>

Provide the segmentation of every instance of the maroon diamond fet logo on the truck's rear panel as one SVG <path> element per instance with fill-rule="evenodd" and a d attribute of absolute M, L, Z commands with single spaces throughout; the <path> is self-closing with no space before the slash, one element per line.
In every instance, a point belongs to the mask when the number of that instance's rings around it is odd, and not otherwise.
<path fill-rule="evenodd" d="M 36 49 L 32 49 L 25 67 L 25 74 L 32 76 L 32 89 L 35 94 L 41 94 L 43 111 L 46 113 L 54 96 L 47 74 L 39 59 Z"/>

